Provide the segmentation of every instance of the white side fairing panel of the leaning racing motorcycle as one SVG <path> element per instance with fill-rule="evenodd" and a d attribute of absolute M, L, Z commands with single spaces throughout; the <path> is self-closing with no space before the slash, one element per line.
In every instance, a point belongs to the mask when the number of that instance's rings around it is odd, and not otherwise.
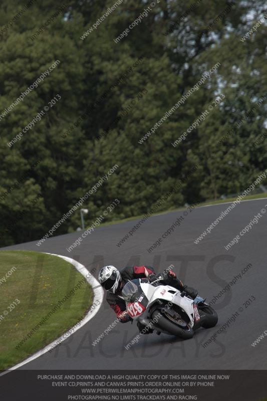
<path fill-rule="evenodd" d="M 169 285 L 160 285 L 154 287 L 149 283 L 140 283 L 142 291 L 145 296 L 149 300 L 146 310 L 139 316 L 133 317 L 135 320 L 139 320 L 141 323 L 147 324 L 147 315 L 149 307 L 158 300 L 163 300 L 167 302 L 171 302 L 172 304 L 180 306 L 184 312 L 188 315 L 190 319 L 189 326 L 193 327 L 194 325 L 194 310 L 193 303 L 194 301 L 186 296 L 181 297 L 181 292 L 178 291 L 174 287 L 170 287 Z"/>

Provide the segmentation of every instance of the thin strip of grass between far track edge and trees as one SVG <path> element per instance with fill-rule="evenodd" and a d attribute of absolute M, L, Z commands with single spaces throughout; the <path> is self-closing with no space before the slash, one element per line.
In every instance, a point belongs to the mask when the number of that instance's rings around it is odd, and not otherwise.
<path fill-rule="evenodd" d="M 244 197 L 244 199 L 242 200 L 247 200 L 247 199 L 256 199 L 256 198 L 263 198 L 263 197 L 267 197 L 267 193 L 257 193 L 254 195 L 247 195 Z M 237 196 L 235 197 L 229 197 L 226 199 L 218 199 L 218 200 L 207 200 L 206 202 L 200 203 L 196 206 L 196 208 L 200 208 L 201 206 L 208 206 L 208 205 L 218 205 L 218 204 L 224 204 L 226 202 L 233 202 L 234 200 L 236 200 Z M 241 202 L 242 202 L 241 200 Z M 156 213 L 152 213 L 151 216 L 158 216 L 158 215 L 165 215 L 166 213 L 170 213 L 170 212 L 178 212 L 179 210 L 184 210 L 186 209 L 184 206 L 181 206 L 180 208 L 171 208 L 165 211 L 161 211 L 161 212 L 156 212 Z M 99 227 L 104 227 L 104 226 L 110 226 L 113 224 L 119 224 L 119 223 L 124 223 L 124 222 L 129 222 L 131 220 L 138 220 L 141 219 L 143 217 L 143 215 L 139 215 L 139 216 L 132 216 L 132 217 L 128 217 L 126 219 L 121 219 L 121 220 L 113 220 L 111 222 L 105 222 L 99 225 Z M 89 226 L 88 226 L 89 228 Z"/>

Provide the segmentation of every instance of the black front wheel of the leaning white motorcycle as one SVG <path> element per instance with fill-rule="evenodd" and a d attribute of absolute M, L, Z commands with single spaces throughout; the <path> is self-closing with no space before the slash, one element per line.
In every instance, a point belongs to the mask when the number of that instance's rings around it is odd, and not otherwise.
<path fill-rule="evenodd" d="M 158 309 L 154 310 L 151 317 L 159 328 L 167 331 L 169 334 L 176 335 L 185 340 L 192 338 L 194 335 L 193 329 L 184 320 L 175 321 L 167 313 L 163 315 Z"/>

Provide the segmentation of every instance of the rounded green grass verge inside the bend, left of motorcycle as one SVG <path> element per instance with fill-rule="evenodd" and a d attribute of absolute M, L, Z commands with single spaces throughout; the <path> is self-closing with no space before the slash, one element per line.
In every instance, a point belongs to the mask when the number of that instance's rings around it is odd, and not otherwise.
<path fill-rule="evenodd" d="M 81 283 L 83 276 L 65 260 L 30 251 L 0 251 L 0 369 L 7 369 L 49 344 L 80 321 L 90 309 L 92 288 Z M 27 334 L 57 302 L 71 292 L 60 309 L 29 338 Z M 16 301 L 18 299 L 18 301 Z M 17 303 L 14 308 L 10 305 Z M 4 314 L 7 311 L 8 314 Z M 27 337 L 19 348 L 18 344 Z"/>

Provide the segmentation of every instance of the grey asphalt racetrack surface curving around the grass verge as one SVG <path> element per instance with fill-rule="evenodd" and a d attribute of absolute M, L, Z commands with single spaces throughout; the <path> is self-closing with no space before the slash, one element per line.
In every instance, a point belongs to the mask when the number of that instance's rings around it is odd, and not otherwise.
<path fill-rule="evenodd" d="M 123 245 L 116 244 L 138 220 L 100 227 L 69 253 L 68 248 L 81 233 L 58 236 L 38 247 L 36 242 L 2 249 L 33 250 L 65 255 L 78 260 L 90 271 L 107 264 L 119 269 L 129 265 L 154 266 L 157 273 L 170 264 L 187 285 L 211 300 L 249 263 L 252 265 L 230 291 L 214 305 L 219 316 L 216 327 L 199 329 L 190 340 L 149 334 L 130 349 L 125 345 L 138 334 L 136 324 L 117 324 L 96 346 L 92 342 L 116 319 L 104 300 L 97 315 L 65 340 L 53 353 L 24 365 L 21 369 L 266 369 L 267 337 L 255 347 L 250 344 L 267 329 L 266 322 L 266 214 L 241 237 L 238 244 L 226 246 L 263 208 L 267 199 L 241 202 L 199 244 L 200 236 L 229 205 L 195 208 L 159 247 L 147 249 L 183 214 L 171 212 L 150 217 Z M 31 284 L 31 283 L 30 283 Z M 29 284 L 29 285 L 30 285 Z M 250 298 L 250 305 L 245 302 Z M 249 303 L 249 302 L 248 302 Z M 239 315 L 228 329 L 207 341 L 239 308 Z M 233 320 L 233 319 L 232 319 Z"/>

